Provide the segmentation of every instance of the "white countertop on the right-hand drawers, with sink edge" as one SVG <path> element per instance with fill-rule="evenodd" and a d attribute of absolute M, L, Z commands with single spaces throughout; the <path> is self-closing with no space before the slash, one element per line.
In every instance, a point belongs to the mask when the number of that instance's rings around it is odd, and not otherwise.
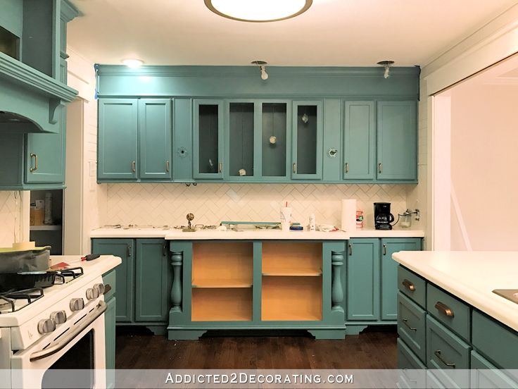
<path fill-rule="evenodd" d="M 518 331 L 518 304 L 494 289 L 518 289 L 518 252 L 396 252 L 398 263 Z"/>

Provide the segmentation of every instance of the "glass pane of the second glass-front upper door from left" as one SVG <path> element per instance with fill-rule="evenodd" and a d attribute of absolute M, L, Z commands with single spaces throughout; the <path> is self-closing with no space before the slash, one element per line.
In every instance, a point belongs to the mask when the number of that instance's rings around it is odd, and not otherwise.
<path fill-rule="evenodd" d="M 253 103 L 230 103 L 230 175 L 253 175 Z"/>

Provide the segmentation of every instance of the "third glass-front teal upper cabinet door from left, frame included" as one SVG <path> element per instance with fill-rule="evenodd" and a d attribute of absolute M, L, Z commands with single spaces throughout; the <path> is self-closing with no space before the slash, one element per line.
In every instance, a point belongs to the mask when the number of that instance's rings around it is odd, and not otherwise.
<path fill-rule="evenodd" d="M 261 177 L 267 181 L 289 181 L 291 104 L 263 101 L 261 104 Z"/>

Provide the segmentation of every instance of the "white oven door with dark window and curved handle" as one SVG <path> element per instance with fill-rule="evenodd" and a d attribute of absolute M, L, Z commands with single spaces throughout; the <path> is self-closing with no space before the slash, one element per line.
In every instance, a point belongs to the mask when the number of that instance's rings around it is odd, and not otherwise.
<path fill-rule="evenodd" d="M 49 343 L 44 338 L 15 352 L 11 358 L 13 388 L 104 388 L 106 308 L 100 300 L 55 340 Z"/>

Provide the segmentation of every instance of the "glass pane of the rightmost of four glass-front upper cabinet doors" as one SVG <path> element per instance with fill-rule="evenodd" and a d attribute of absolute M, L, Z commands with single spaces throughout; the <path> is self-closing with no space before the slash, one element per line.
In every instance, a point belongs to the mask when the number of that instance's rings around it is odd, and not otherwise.
<path fill-rule="evenodd" d="M 317 106 L 298 106 L 297 173 L 317 173 Z"/>

